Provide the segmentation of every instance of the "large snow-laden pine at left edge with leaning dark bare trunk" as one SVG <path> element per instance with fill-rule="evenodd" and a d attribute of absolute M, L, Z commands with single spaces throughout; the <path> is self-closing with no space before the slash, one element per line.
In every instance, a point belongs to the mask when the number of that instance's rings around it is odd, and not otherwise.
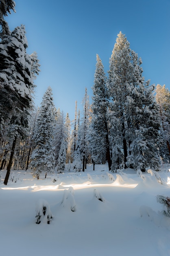
<path fill-rule="evenodd" d="M 11 156 L 4 184 L 7 184 L 17 138 L 26 135 L 29 110 L 33 107 L 33 76 L 25 27 L 16 27 L 0 42 L 0 125 L 9 125 Z M 3 111 L 2 111 L 3 110 Z"/>

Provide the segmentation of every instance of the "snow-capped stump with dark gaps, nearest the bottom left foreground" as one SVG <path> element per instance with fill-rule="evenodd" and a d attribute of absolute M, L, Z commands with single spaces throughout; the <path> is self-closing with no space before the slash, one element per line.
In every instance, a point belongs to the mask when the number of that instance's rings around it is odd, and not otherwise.
<path fill-rule="evenodd" d="M 37 219 L 35 222 L 36 224 L 40 224 L 41 222 L 50 224 L 53 217 L 50 211 L 50 206 L 46 200 L 40 199 L 37 202 L 35 218 Z"/>

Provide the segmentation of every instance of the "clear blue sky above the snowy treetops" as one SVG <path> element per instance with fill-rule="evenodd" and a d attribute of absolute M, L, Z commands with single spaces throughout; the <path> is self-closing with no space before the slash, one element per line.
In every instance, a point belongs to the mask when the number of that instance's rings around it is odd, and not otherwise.
<path fill-rule="evenodd" d="M 144 77 L 170 90 L 170 0 L 15 0 L 6 17 L 11 31 L 26 27 L 27 53 L 37 52 L 41 72 L 35 105 L 50 85 L 54 104 L 74 119 L 75 101 L 85 87 L 91 101 L 96 54 L 109 70 L 117 34 L 122 31 L 142 58 Z"/>

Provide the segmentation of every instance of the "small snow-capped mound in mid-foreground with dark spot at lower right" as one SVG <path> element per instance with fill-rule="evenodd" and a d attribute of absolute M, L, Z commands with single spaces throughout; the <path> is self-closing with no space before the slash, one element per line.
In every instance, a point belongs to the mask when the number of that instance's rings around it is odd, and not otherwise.
<path fill-rule="evenodd" d="M 68 207 L 71 211 L 76 211 L 76 202 L 74 199 L 74 189 L 72 186 L 64 190 L 63 200 L 61 201 L 62 207 Z"/>

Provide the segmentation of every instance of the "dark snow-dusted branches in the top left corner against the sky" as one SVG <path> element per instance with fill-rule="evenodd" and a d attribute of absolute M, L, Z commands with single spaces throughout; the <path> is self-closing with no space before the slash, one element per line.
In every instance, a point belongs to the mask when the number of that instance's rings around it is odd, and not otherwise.
<path fill-rule="evenodd" d="M 15 1 L 13 0 L 1 0 L 0 1 L 0 37 L 3 35 L 9 35 L 10 30 L 8 23 L 4 20 L 4 16 L 11 14 L 11 10 L 15 12 Z"/>

